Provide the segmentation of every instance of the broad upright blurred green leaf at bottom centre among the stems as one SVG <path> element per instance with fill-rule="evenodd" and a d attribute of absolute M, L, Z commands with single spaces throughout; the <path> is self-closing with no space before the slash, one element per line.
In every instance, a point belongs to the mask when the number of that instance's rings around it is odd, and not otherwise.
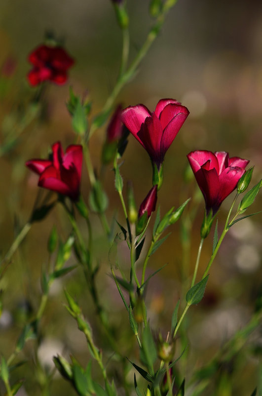
<path fill-rule="evenodd" d="M 154 374 L 153 364 L 157 358 L 157 352 L 149 325 L 147 325 L 143 331 L 140 358 L 142 363 L 148 367 L 150 374 L 153 375 Z"/>

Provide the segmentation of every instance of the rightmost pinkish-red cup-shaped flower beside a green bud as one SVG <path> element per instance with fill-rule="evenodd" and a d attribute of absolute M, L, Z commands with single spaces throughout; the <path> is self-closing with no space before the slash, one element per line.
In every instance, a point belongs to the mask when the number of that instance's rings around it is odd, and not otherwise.
<path fill-rule="evenodd" d="M 224 199 L 236 188 L 249 161 L 229 158 L 225 151 L 212 153 L 206 150 L 192 151 L 187 158 L 204 195 L 207 214 L 212 209 L 214 216 Z"/>

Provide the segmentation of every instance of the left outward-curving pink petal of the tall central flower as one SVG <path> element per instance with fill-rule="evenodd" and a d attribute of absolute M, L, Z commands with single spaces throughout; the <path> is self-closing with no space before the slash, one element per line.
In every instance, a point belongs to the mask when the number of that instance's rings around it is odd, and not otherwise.
<path fill-rule="evenodd" d="M 137 106 L 129 106 L 122 111 L 122 122 L 126 128 L 137 138 L 137 140 L 144 146 L 144 143 L 137 136 L 141 129 L 141 125 L 145 122 L 147 117 L 150 117 L 149 109 L 143 104 Z"/>

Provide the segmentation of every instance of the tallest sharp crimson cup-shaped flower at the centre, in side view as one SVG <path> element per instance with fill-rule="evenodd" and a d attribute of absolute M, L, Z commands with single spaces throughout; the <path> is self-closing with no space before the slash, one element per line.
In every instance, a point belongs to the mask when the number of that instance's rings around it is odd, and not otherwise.
<path fill-rule="evenodd" d="M 167 149 L 188 114 L 187 107 L 177 100 L 161 99 L 152 113 L 143 104 L 127 107 L 122 112 L 122 121 L 147 150 L 152 163 L 159 170 Z"/>

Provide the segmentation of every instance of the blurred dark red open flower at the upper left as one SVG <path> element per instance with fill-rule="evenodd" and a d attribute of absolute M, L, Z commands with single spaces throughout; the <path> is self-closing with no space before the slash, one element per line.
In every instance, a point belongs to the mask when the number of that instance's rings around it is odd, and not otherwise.
<path fill-rule="evenodd" d="M 36 86 L 45 80 L 56 84 L 64 84 L 67 81 L 67 69 L 73 63 L 72 59 L 62 47 L 40 45 L 28 57 L 34 65 L 27 78 L 32 86 Z"/>

